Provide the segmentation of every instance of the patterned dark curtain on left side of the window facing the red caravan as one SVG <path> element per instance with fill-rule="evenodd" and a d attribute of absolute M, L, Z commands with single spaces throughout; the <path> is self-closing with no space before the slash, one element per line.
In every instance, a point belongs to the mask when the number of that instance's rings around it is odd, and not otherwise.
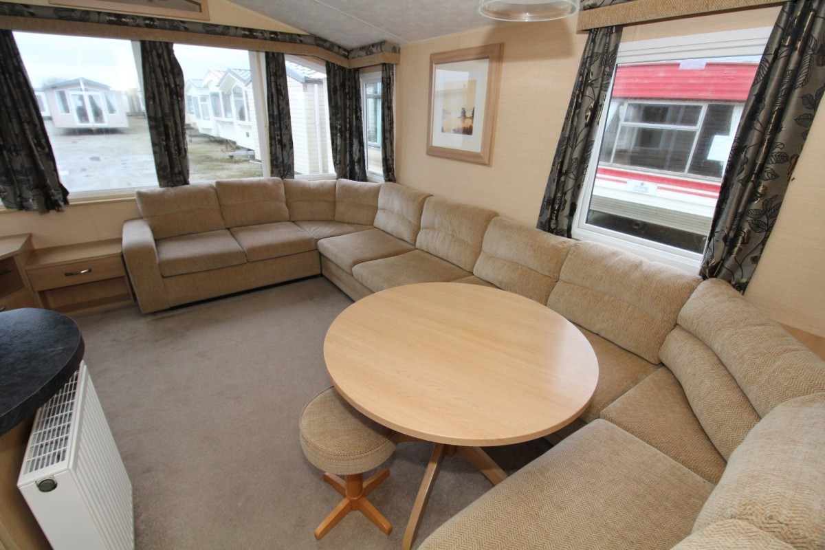
<path fill-rule="evenodd" d="M 570 237 L 620 40 L 620 26 L 593 29 L 587 36 L 536 223 L 549 233 Z"/>

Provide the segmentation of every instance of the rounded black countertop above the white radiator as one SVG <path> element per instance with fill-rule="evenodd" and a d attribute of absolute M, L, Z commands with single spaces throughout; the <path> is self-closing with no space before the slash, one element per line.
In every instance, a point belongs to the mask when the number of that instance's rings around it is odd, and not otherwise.
<path fill-rule="evenodd" d="M 49 309 L 0 313 L 0 435 L 57 393 L 83 359 L 75 322 Z"/>

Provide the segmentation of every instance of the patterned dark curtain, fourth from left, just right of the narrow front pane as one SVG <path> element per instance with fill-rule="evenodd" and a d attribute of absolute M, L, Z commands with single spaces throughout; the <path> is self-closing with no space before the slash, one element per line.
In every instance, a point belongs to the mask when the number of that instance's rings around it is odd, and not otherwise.
<path fill-rule="evenodd" d="M 361 79 L 357 68 L 327 62 L 327 96 L 332 163 L 340 178 L 366 181 Z"/>

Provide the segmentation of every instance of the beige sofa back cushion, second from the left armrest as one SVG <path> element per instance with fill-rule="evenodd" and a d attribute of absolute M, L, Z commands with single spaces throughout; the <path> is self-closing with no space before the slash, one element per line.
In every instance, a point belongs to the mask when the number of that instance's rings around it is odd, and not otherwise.
<path fill-rule="evenodd" d="M 280 177 L 218 180 L 214 182 L 214 188 L 218 191 L 220 211 L 228 228 L 290 219 L 284 182 Z"/>

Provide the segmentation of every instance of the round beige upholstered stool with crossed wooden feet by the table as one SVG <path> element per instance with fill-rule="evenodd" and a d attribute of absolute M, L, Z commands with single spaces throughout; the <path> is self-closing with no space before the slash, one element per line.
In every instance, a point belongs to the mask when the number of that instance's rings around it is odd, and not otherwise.
<path fill-rule="evenodd" d="M 323 479 L 344 496 L 341 504 L 315 529 L 322 538 L 351 510 L 360 510 L 384 534 L 393 526 L 366 500 L 389 476 L 381 468 L 364 481 L 364 472 L 377 468 L 395 450 L 394 432 L 356 411 L 335 388 L 318 393 L 304 406 L 300 418 L 301 448 L 309 462 L 323 470 Z M 334 474 L 342 474 L 344 479 Z"/>

